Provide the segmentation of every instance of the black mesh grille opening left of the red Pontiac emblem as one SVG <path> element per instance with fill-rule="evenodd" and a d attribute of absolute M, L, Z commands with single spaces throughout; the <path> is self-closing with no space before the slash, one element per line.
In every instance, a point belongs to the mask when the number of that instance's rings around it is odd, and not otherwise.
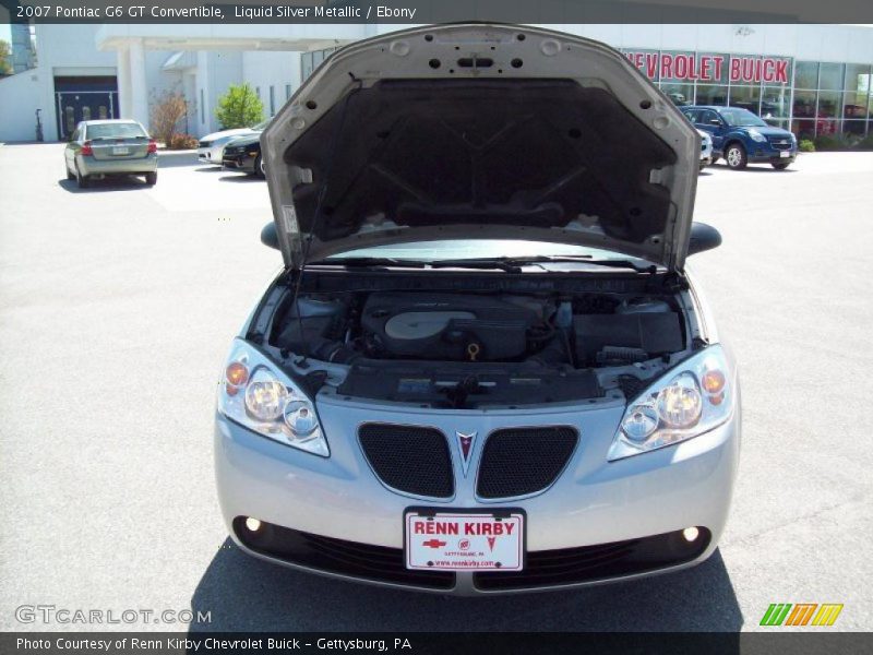
<path fill-rule="evenodd" d="M 445 436 L 433 428 L 367 424 L 358 430 L 373 473 L 397 491 L 428 498 L 455 492 Z"/>

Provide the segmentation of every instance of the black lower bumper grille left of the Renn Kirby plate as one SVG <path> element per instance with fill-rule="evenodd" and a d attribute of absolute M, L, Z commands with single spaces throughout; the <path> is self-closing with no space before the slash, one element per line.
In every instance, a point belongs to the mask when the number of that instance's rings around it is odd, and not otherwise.
<path fill-rule="evenodd" d="M 455 586 L 451 571 L 408 570 L 400 548 L 346 541 L 263 522 L 252 532 L 246 527 L 244 516 L 234 520 L 234 532 L 253 551 L 308 569 L 424 588 Z"/>

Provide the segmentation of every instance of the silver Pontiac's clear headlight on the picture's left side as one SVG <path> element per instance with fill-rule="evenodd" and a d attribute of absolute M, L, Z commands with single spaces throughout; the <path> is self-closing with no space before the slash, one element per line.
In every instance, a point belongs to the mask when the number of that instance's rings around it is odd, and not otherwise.
<path fill-rule="evenodd" d="M 314 403 L 275 364 L 239 340 L 222 376 L 218 410 L 285 445 L 331 454 Z"/>

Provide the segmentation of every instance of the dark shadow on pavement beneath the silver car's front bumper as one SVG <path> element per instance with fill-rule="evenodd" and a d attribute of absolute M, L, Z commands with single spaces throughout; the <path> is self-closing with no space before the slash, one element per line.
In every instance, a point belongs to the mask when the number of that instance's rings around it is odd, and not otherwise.
<path fill-rule="evenodd" d="M 255 559 L 227 539 L 191 598 L 204 631 L 722 631 L 743 624 L 718 550 L 684 571 L 576 591 L 455 597 L 382 588 Z M 208 621 L 196 621 L 208 612 Z"/>

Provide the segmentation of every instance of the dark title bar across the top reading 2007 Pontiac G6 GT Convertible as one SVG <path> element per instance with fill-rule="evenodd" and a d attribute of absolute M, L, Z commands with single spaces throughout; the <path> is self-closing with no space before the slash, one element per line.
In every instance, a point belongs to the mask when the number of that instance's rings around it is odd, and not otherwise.
<path fill-rule="evenodd" d="M 0 23 L 873 23 L 870 0 L 0 0 Z"/>

